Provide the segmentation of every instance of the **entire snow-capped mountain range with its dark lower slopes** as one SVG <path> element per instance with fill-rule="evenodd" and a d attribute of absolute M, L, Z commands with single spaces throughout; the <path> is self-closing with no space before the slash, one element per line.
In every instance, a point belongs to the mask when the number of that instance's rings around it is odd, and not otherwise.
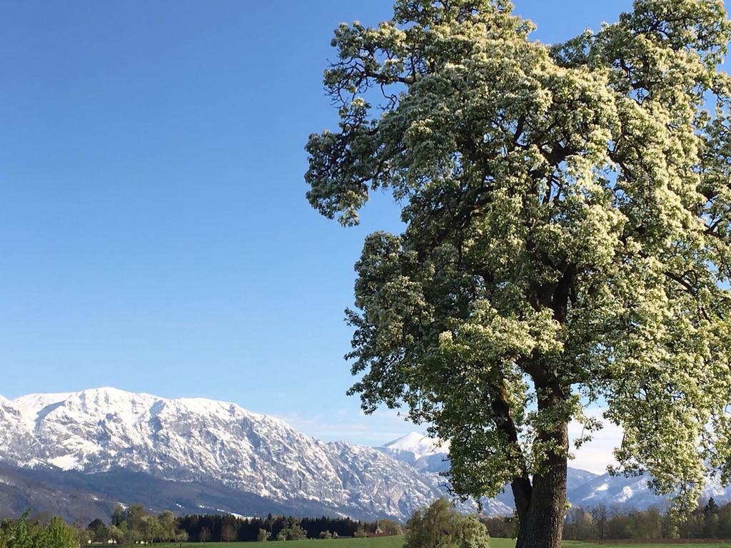
<path fill-rule="evenodd" d="M 69 520 L 116 503 L 156 511 L 348 515 L 406 520 L 447 495 L 448 445 L 411 433 L 379 448 L 325 443 L 232 403 L 117 389 L 0 397 L 0 514 L 27 508 Z M 643 478 L 569 468 L 569 501 L 662 504 Z M 716 501 L 730 491 L 711 482 Z M 483 501 L 512 514 L 512 495 Z M 474 509 L 474 505 L 465 506 Z"/>

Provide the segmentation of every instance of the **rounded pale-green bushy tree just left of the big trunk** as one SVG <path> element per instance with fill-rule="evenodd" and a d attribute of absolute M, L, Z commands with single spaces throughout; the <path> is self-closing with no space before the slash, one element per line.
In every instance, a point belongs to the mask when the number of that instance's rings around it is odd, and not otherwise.
<path fill-rule="evenodd" d="M 408 523 L 405 548 L 488 548 L 488 528 L 477 516 L 463 516 L 439 498 L 418 509 Z"/>

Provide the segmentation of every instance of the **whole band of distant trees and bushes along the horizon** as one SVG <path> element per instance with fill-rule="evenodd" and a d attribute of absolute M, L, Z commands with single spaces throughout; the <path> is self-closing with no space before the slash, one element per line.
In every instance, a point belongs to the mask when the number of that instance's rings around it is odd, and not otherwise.
<path fill-rule="evenodd" d="M 449 537 L 455 546 L 479 546 L 487 532 L 507 538 L 517 532 L 514 517 L 482 517 L 458 514 L 445 499 L 414 512 L 406 526 L 407 546 L 424 547 Z M 86 529 L 67 525 L 60 517 L 50 520 L 0 522 L 0 548 L 75 548 L 88 541 L 117 544 L 139 542 L 231 542 L 289 541 L 299 539 L 337 539 L 340 536 L 371 534 L 398 535 L 401 525 L 393 520 L 360 522 L 348 517 L 303 518 L 274 516 L 242 518 L 231 514 L 186 515 L 175 517 L 170 511 L 148 514 L 143 506 L 118 506 L 112 520 L 92 521 Z M 686 514 L 681 520 L 656 506 L 646 510 L 574 506 L 567 513 L 564 539 L 731 539 L 731 503 L 719 506 L 713 498 Z M 431 543 L 431 544 L 430 544 Z M 466 543 L 466 544 L 465 544 Z M 452 545 L 450 544 L 450 545 Z"/>

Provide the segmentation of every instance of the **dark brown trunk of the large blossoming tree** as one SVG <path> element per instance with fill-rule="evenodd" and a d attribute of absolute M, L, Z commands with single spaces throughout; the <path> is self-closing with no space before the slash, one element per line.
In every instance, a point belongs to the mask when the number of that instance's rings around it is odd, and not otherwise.
<path fill-rule="evenodd" d="M 561 548 L 566 511 L 568 423 L 538 437 L 557 442 L 564 452 L 550 452 L 543 473 L 534 474 L 527 487 L 527 479 L 523 479 L 523 484 L 512 483 L 520 520 L 515 548 Z"/>

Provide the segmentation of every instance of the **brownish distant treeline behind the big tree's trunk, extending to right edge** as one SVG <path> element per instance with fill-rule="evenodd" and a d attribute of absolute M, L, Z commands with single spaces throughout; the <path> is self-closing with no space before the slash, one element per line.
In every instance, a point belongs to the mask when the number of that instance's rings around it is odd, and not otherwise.
<path fill-rule="evenodd" d="M 491 536 L 515 536 L 512 517 L 482 520 Z M 713 498 L 690 514 L 676 517 L 656 506 L 646 510 L 598 504 L 574 506 L 564 523 L 564 540 L 602 541 L 615 539 L 731 539 L 731 503 L 719 506 Z"/>

